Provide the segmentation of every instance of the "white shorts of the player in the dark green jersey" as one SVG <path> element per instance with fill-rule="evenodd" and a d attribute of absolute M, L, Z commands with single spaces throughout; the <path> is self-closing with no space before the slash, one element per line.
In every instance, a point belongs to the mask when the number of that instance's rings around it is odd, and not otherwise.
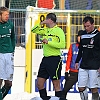
<path fill-rule="evenodd" d="M 0 53 L 0 79 L 13 80 L 14 56 L 13 53 Z"/>

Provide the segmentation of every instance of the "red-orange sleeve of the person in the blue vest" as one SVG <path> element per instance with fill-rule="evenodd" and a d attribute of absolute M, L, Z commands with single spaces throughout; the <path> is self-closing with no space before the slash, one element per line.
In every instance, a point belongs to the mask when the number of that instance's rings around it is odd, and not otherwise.
<path fill-rule="evenodd" d="M 68 50 L 67 60 L 66 60 L 66 72 L 70 70 L 70 64 L 72 60 L 72 45 L 70 45 L 70 48 Z"/>

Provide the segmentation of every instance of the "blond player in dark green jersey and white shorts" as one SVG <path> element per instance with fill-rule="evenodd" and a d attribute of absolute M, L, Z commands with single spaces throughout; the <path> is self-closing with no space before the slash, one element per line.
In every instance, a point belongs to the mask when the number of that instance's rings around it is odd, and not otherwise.
<path fill-rule="evenodd" d="M 15 34 L 14 25 L 9 21 L 9 10 L 0 7 L 0 100 L 10 90 L 14 72 Z M 1 87 L 4 80 L 4 86 Z"/>

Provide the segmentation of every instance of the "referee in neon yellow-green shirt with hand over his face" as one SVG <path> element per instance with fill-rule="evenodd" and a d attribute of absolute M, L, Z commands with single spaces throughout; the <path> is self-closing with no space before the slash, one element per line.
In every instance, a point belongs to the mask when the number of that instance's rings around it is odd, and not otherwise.
<path fill-rule="evenodd" d="M 32 28 L 33 33 L 43 36 L 43 59 L 37 76 L 37 87 L 40 97 L 43 100 L 49 100 L 44 84 L 50 77 L 52 80 L 55 96 L 61 96 L 60 78 L 62 69 L 62 60 L 60 49 L 65 48 L 65 34 L 61 28 L 56 25 L 56 15 L 49 13 L 46 19 L 40 24 Z M 46 28 L 41 28 L 41 25 L 46 24 Z"/>

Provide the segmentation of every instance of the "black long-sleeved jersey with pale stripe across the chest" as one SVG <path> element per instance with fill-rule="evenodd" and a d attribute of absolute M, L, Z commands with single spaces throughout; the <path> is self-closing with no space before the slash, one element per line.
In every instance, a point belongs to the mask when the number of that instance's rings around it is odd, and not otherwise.
<path fill-rule="evenodd" d="M 86 33 L 86 31 L 84 31 Z M 76 63 L 82 57 L 80 68 L 97 70 L 100 67 L 100 32 L 94 29 L 91 33 L 81 36 L 79 53 Z"/>

